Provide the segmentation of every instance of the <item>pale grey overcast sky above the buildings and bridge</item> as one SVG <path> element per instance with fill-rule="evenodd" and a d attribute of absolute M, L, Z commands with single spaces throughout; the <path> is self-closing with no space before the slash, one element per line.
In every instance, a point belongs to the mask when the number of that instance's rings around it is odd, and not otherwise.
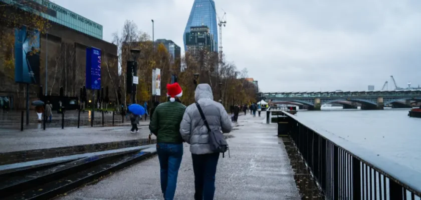
<path fill-rule="evenodd" d="M 104 40 L 133 20 L 183 48 L 193 0 L 53 0 L 103 25 Z M 381 89 L 421 84 L 420 0 L 215 0 L 226 58 L 262 91 Z M 394 86 L 393 86 L 394 88 Z"/>

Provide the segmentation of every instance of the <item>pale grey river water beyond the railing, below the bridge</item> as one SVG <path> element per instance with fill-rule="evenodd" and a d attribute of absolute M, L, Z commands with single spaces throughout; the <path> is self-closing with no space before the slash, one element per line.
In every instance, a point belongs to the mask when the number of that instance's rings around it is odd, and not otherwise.
<path fill-rule="evenodd" d="M 297 117 L 394 162 L 421 172 L 421 118 L 409 109 L 300 110 Z"/>

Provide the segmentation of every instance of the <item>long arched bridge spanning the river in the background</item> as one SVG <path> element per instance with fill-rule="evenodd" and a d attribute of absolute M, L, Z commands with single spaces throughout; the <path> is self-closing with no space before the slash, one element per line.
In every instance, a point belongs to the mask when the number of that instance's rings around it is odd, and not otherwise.
<path fill-rule="evenodd" d="M 343 101 L 357 102 L 361 109 L 383 109 L 393 103 L 410 104 L 421 101 L 421 90 L 381 90 L 381 91 L 312 91 L 312 92 L 263 92 L 262 97 L 272 102 L 296 102 L 320 110 L 321 105 Z"/>

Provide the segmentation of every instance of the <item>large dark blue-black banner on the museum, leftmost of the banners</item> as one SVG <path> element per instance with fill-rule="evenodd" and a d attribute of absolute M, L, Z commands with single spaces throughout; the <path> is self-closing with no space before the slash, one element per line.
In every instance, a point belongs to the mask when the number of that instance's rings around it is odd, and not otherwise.
<path fill-rule="evenodd" d="M 40 84 L 40 32 L 15 29 L 15 82 Z"/>

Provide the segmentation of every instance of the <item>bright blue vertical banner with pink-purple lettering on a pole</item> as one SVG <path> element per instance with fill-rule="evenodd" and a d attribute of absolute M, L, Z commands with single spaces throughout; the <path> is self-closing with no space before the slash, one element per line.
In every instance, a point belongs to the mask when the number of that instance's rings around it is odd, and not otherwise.
<path fill-rule="evenodd" d="M 101 49 L 86 48 L 86 88 L 101 88 Z"/>

